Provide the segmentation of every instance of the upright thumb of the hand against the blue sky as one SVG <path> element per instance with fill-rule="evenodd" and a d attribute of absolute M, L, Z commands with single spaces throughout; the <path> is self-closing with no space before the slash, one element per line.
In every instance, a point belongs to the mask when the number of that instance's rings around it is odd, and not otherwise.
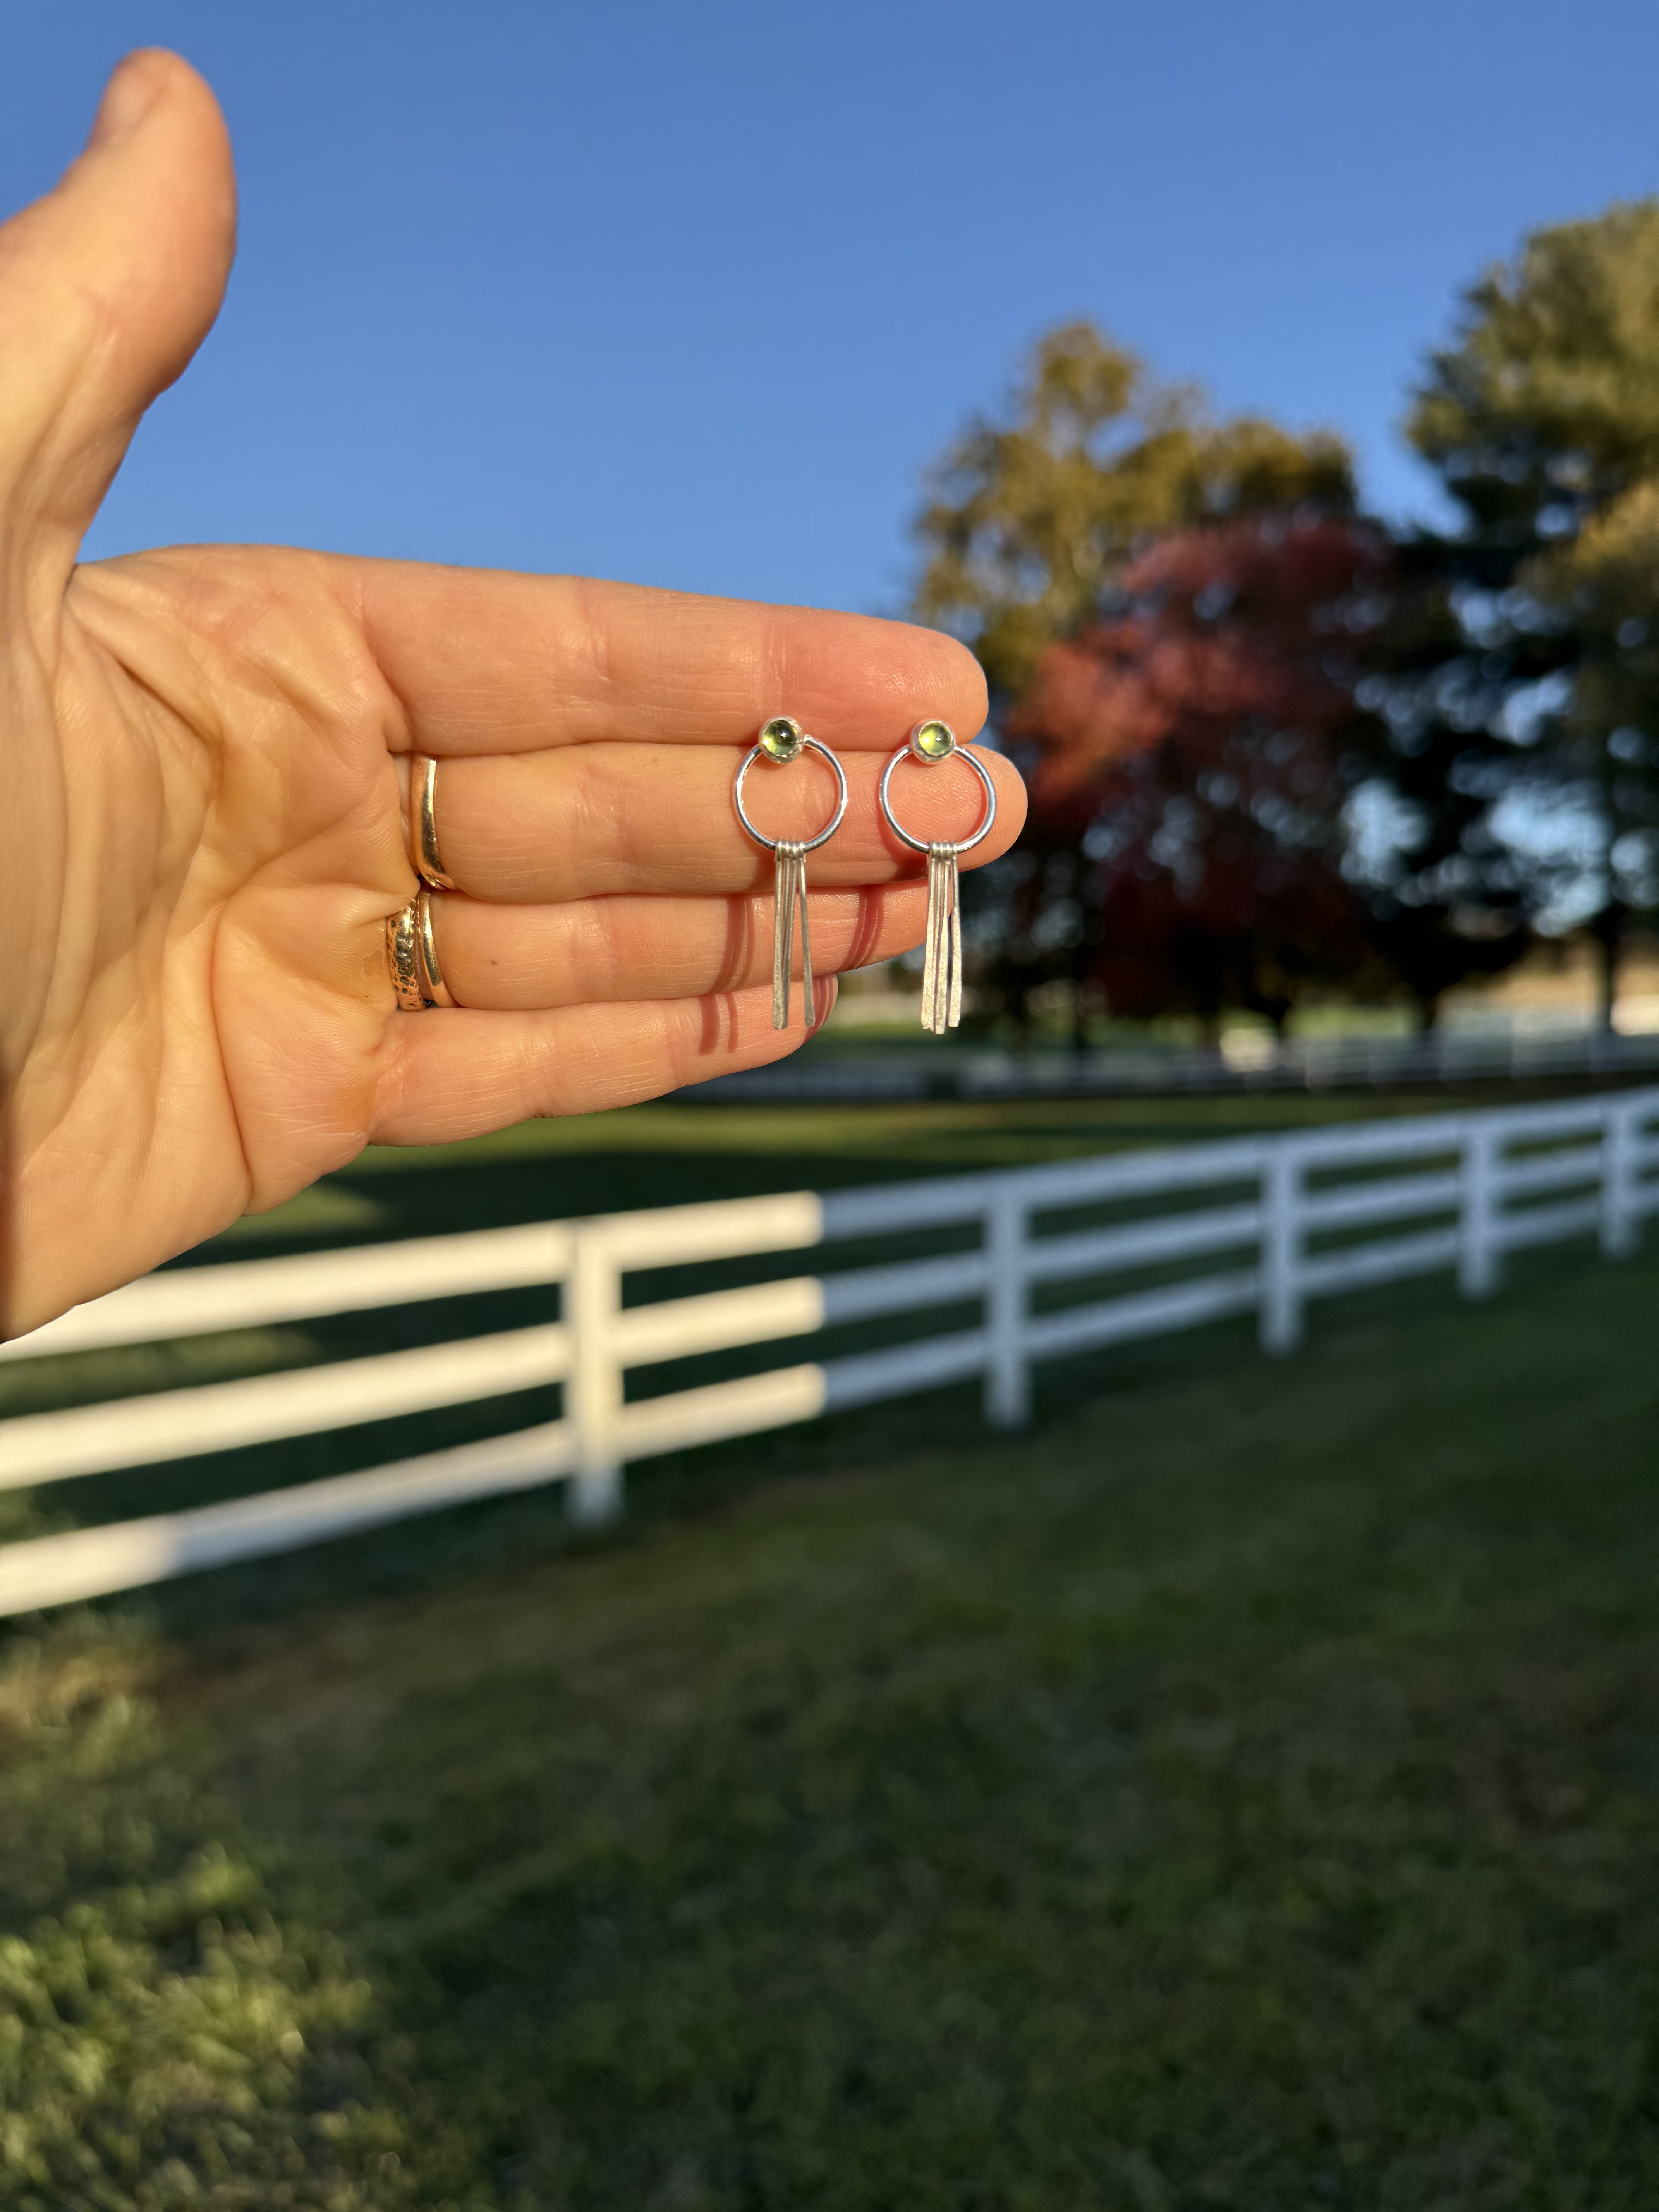
<path fill-rule="evenodd" d="M 177 53 L 131 53 L 86 150 L 0 228 L 7 553 L 69 575 L 139 416 L 219 312 L 234 237 L 219 104 Z"/>

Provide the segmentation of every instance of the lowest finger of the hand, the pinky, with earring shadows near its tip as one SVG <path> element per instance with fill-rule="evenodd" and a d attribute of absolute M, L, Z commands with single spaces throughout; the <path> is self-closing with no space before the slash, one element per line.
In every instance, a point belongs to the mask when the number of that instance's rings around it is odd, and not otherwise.
<path fill-rule="evenodd" d="M 834 1000 L 836 982 L 825 975 L 816 984 L 818 1020 Z M 796 991 L 790 1029 L 772 1029 L 770 987 L 540 1013 L 398 1013 L 369 1144 L 456 1144 L 515 1121 L 630 1106 L 712 1075 L 761 1068 L 805 1040 L 799 1004 Z"/>

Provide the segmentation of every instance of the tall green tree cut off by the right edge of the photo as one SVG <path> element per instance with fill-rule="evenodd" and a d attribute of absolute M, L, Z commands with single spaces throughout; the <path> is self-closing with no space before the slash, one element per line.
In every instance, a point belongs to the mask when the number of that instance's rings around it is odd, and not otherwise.
<path fill-rule="evenodd" d="M 1407 434 L 1460 524 L 1402 546 L 1378 637 L 1416 787 L 1396 872 L 1407 894 L 1460 883 L 1489 922 L 1584 916 L 1610 1020 L 1628 918 L 1655 898 L 1659 201 L 1537 230 L 1475 283 Z"/>

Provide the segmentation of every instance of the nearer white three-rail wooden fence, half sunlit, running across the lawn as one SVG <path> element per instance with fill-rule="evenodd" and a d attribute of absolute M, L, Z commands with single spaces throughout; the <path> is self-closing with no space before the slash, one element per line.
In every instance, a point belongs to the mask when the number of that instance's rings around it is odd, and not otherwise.
<path fill-rule="evenodd" d="M 155 1274 L 0 1345 L 0 1358 L 535 1285 L 557 1285 L 562 1312 L 504 1334 L 0 1420 L 0 1489 L 553 1383 L 562 1416 L 363 1473 L 0 1546 L 0 1613 L 551 1480 L 571 1482 L 577 1520 L 602 1522 L 622 1504 L 628 1460 L 973 1376 L 984 1383 L 987 1416 L 1018 1427 L 1037 1360 L 1250 1312 L 1263 1347 L 1290 1352 L 1314 1298 L 1438 1270 L 1455 1270 L 1467 1296 L 1489 1296 L 1509 1252 L 1595 1237 L 1619 1259 L 1655 1212 L 1659 1088 Z M 1082 1214 L 1095 1221 L 1079 1225 Z M 639 1270 L 929 1234 L 967 1248 L 624 1305 L 624 1281 Z M 1102 1296 L 1113 1279 L 1130 1287 Z M 978 1318 L 927 1334 L 927 1316 L 949 1307 Z M 661 1360 L 874 1318 L 911 1334 L 876 1352 L 626 1396 L 628 1374 Z"/>

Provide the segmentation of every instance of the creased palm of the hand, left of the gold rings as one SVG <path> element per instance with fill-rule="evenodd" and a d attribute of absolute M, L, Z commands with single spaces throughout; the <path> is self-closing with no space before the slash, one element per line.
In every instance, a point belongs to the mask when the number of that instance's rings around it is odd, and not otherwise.
<path fill-rule="evenodd" d="M 18 1135 L 31 1197 L 117 1279 L 374 1128 L 380 918 L 409 896 L 378 708 L 303 555 L 150 555 L 66 593 L 53 721 L 71 869 L 93 838 L 97 867 L 60 907 Z"/>

